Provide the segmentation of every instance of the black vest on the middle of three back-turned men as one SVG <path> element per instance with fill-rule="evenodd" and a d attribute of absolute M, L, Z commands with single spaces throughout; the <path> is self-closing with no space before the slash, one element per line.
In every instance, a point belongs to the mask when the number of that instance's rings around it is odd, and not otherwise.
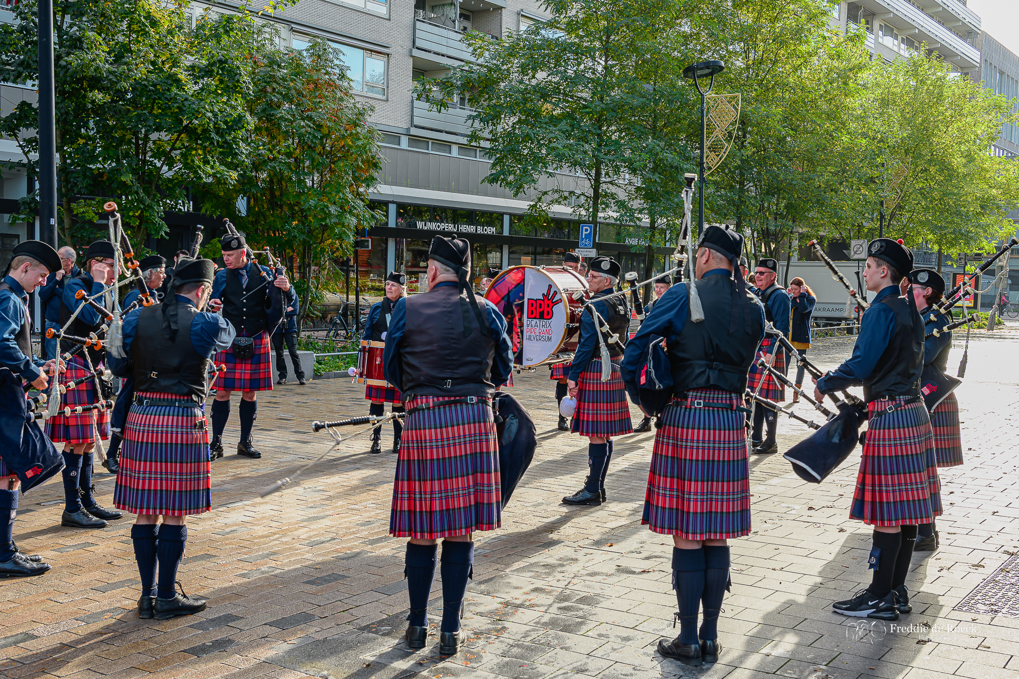
<path fill-rule="evenodd" d="M 399 342 L 404 384 L 398 385 L 405 398 L 408 394 L 491 397 L 495 393 L 491 332 L 483 334 L 471 313 L 470 331 L 464 337 L 461 298 L 457 287 L 449 285 L 406 298 L 407 329 Z M 487 323 L 485 306 L 481 302 L 481 318 Z"/>

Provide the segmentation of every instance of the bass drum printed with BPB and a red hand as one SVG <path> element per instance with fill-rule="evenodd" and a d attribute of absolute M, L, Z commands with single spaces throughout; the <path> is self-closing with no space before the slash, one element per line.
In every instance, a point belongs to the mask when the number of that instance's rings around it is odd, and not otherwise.
<path fill-rule="evenodd" d="M 580 298 L 574 299 L 577 294 Z M 509 267 L 492 280 L 485 299 L 505 317 L 514 363 L 533 367 L 571 360 L 580 339 L 587 281 L 566 267 Z"/>

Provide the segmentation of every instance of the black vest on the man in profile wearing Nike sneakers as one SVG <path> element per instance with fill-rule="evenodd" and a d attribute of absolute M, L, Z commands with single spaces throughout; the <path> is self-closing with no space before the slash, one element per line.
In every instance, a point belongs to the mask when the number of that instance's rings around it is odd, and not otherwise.
<path fill-rule="evenodd" d="M 863 381 L 863 398 L 869 403 L 880 396 L 917 396 L 923 372 L 923 319 L 902 295 L 889 295 L 874 303 L 892 309 L 895 333 Z"/>

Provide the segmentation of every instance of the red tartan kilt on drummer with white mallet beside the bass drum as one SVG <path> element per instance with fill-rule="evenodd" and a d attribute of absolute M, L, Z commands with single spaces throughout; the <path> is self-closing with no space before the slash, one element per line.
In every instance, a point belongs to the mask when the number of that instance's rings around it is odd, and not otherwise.
<path fill-rule="evenodd" d="M 620 363 L 623 356 L 612 358 L 612 374 L 608 382 L 601 381 L 601 360 L 594 358 L 577 380 L 577 410 L 570 431 L 583 436 L 610 437 L 634 431 L 630 421 L 630 402 L 623 385 Z"/>

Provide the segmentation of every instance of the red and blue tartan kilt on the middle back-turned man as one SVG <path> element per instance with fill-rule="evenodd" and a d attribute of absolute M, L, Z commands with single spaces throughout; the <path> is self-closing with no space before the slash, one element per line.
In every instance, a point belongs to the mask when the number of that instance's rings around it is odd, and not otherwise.
<path fill-rule="evenodd" d="M 407 409 L 453 397 L 418 396 Z M 499 527 L 499 451 L 491 399 L 409 414 L 396 460 L 389 533 L 436 540 Z"/>

